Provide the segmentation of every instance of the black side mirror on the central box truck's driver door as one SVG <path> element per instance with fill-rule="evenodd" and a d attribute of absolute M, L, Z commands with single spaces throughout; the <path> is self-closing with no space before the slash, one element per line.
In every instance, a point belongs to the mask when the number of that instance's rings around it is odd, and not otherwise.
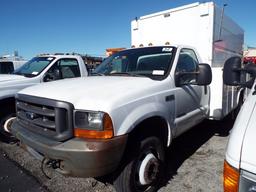
<path fill-rule="evenodd" d="M 199 73 L 197 75 L 197 85 L 210 85 L 212 82 L 212 69 L 206 63 L 199 64 Z"/>

